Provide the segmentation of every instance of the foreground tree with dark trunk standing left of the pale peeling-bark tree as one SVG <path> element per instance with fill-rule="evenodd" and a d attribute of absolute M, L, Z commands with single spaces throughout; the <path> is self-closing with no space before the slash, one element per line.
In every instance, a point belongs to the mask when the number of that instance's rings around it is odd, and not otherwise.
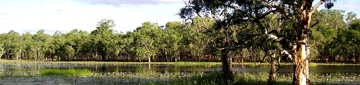
<path fill-rule="evenodd" d="M 243 25 L 245 24 L 243 22 L 225 26 L 227 24 L 225 21 L 227 9 L 223 9 L 223 6 L 221 6 L 223 3 L 227 3 L 227 1 L 191 0 L 180 10 L 179 16 L 184 19 L 185 23 L 196 27 L 195 36 L 203 38 L 201 36 L 205 35 L 204 37 L 209 37 L 212 43 L 212 45 L 208 45 L 209 51 L 213 51 L 213 54 L 220 53 L 224 77 L 225 79 L 232 79 L 233 70 L 229 52 L 243 47 L 242 45 L 245 42 L 242 42 L 242 39 L 238 39 L 237 35 L 240 30 L 247 27 Z M 243 33 L 246 34 L 248 32 Z"/>

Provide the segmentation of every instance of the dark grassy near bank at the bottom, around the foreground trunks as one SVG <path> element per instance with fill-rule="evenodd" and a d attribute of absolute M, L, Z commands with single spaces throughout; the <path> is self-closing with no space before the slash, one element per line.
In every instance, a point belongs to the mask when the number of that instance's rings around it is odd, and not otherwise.
<path fill-rule="evenodd" d="M 291 76 L 277 76 L 276 82 L 268 82 L 268 76 L 234 74 L 234 80 L 224 80 L 221 72 L 173 78 L 171 82 L 148 82 L 144 85 L 291 85 Z M 327 81 L 326 79 L 332 79 Z M 359 82 L 337 77 L 313 76 L 310 85 L 357 85 Z"/>

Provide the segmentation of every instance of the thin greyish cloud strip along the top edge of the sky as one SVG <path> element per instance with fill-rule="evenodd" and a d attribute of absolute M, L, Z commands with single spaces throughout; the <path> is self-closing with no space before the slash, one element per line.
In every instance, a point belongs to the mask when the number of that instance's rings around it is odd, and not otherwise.
<path fill-rule="evenodd" d="M 168 3 L 181 3 L 182 0 L 75 0 L 80 2 L 86 2 L 90 4 L 107 4 L 107 5 L 124 5 L 124 4 L 134 4 L 134 5 L 144 5 L 144 4 L 168 4 Z"/>

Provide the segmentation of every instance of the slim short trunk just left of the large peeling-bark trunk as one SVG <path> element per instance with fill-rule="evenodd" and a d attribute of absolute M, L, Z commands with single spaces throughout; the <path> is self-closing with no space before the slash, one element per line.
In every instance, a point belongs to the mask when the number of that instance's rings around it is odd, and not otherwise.
<path fill-rule="evenodd" d="M 270 68 L 270 74 L 269 74 L 269 79 L 268 79 L 268 83 L 269 84 L 273 84 L 273 83 L 275 83 L 276 82 L 276 79 L 275 79 L 275 77 L 276 77 L 276 60 L 275 60 L 275 58 L 276 58 L 276 55 L 275 55 L 275 53 L 272 53 L 271 54 L 271 68 Z"/>

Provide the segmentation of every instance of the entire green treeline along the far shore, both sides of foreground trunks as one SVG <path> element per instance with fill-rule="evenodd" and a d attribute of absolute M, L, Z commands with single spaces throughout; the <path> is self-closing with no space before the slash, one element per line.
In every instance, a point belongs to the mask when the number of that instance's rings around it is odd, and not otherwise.
<path fill-rule="evenodd" d="M 310 60 L 315 62 L 359 62 L 360 19 L 343 10 L 316 12 L 311 28 Z M 194 17 L 195 23 L 203 24 Z M 201 22 L 201 23 L 200 23 Z M 207 21 L 205 24 L 211 24 Z M 94 31 L 74 29 L 53 35 L 39 30 L 36 34 L 10 31 L 0 34 L 1 58 L 57 61 L 219 61 L 214 39 L 203 28 L 174 21 L 165 26 L 144 22 L 133 32 L 116 32 L 113 20 L 101 20 Z M 243 35 L 253 33 L 249 30 Z M 240 36 L 248 37 L 248 36 Z M 252 42 L 261 42 L 253 40 Z M 264 40 L 263 40 L 264 41 Z M 264 44 L 261 44 L 264 46 Z M 261 47 L 261 46 L 260 46 Z M 214 48 L 213 48 L 214 49 Z M 261 61 L 266 53 L 249 47 L 232 51 L 232 61 Z M 281 56 L 281 55 L 276 55 Z M 282 60 L 287 60 L 281 58 Z M 268 60 L 268 59 L 267 59 Z"/>

